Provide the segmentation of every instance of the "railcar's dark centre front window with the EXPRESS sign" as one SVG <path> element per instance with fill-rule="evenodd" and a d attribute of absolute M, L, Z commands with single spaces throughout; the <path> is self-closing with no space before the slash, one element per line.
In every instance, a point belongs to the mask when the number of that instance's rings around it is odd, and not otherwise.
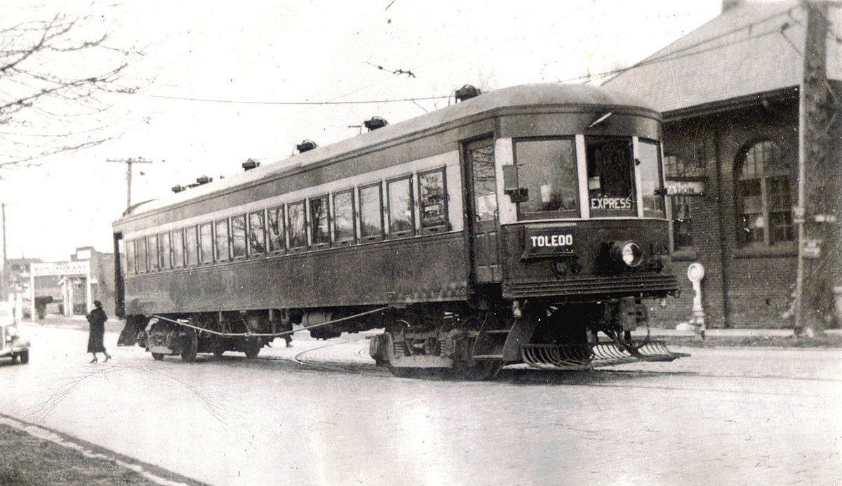
<path fill-rule="evenodd" d="M 591 216 L 635 216 L 632 138 L 586 136 L 585 153 Z"/>

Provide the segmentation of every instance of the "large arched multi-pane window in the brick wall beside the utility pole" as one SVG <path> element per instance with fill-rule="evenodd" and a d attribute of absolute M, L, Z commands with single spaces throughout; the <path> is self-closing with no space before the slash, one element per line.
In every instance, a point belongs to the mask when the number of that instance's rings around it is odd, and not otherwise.
<path fill-rule="evenodd" d="M 734 167 L 734 200 L 738 242 L 743 246 L 795 239 L 789 170 L 775 142 L 756 142 L 739 152 Z"/>

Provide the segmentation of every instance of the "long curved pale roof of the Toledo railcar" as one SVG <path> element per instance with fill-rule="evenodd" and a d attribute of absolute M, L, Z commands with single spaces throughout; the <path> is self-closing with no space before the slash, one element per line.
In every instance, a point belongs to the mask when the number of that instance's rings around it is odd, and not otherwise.
<path fill-rule="evenodd" d="M 643 104 L 639 99 L 625 93 L 609 91 L 584 84 L 541 83 L 523 84 L 509 88 L 501 88 L 488 93 L 482 93 L 476 98 L 452 104 L 443 109 L 437 109 L 426 115 L 385 126 L 375 131 L 362 133 L 353 138 L 336 142 L 324 147 L 318 147 L 309 152 L 296 154 L 274 163 L 267 163 L 247 172 L 227 176 L 208 184 L 189 188 L 182 192 L 158 200 L 148 200 L 131 206 L 124 213 L 124 217 L 141 215 L 167 206 L 179 205 L 189 200 L 203 198 L 217 192 L 231 190 L 242 184 L 295 172 L 312 163 L 342 158 L 354 152 L 360 152 L 369 147 L 377 147 L 381 143 L 409 136 L 413 133 L 428 130 L 437 126 L 445 126 L 450 122 L 466 117 L 482 115 L 497 109 L 528 106 L 557 106 L 557 107 L 604 107 L 606 109 L 630 107 L 638 109 L 654 109 Z"/>

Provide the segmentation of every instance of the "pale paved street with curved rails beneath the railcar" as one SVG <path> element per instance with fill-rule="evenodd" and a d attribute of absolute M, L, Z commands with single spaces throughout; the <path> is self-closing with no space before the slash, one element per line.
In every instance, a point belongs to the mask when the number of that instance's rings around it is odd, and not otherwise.
<path fill-rule="evenodd" d="M 108 333 L 92 365 L 87 333 L 22 328 L 0 412 L 210 484 L 842 483 L 835 349 L 447 382 L 377 369 L 365 334 L 188 364 Z"/>

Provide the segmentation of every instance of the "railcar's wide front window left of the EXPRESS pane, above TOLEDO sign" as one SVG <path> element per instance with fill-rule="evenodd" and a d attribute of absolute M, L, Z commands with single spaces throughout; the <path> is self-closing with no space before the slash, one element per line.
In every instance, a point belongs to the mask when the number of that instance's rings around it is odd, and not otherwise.
<path fill-rule="evenodd" d="M 547 212 L 570 211 L 578 216 L 578 174 L 573 140 L 519 141 L 514 161 L 520 187 L 529 200 L 520 203 L 526 217 L 546 217 Z"/>

